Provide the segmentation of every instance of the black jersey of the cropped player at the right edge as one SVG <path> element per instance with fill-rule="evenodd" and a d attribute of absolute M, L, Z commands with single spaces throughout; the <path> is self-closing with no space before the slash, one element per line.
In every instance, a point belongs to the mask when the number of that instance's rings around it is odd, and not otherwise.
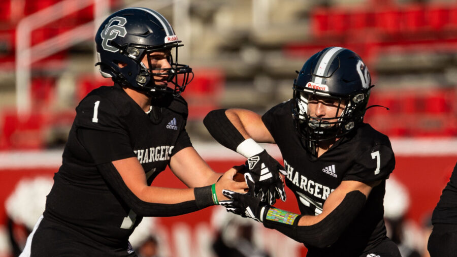
<path fill-rule="evenodd" d="M 433 210 L 432 223 L 457 224 L 457 163 Z"/>

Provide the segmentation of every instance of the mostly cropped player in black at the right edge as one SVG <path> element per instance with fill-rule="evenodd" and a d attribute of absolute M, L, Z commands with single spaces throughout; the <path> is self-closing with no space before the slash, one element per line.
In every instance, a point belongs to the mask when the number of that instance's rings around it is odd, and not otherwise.
<path fill-rule="evenodd" d="M 431 257 L 457 254 L 457 163 L 432 214 L 433 230 L 427 249 Z"/>

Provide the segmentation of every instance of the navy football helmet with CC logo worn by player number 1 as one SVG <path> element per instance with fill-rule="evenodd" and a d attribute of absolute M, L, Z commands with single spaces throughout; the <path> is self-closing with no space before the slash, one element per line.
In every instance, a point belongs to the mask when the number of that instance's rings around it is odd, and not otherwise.
<path fill-rule="evenodd" d="M 183 46 L 181 41 L 167 19 L 154 10 L 126 8 L 111 14 L 97 31 L 95 43 L 100 72 L 122 86 L 155 96 L 163 93 L 177 96 L 193 78 L 192 69 L 177 61 L 178 47 Z M 174 59 L 172 54 L 168 59 L 171 68 L 151 67 L 148 53 L 173 48 Z M 149 68 L 142 62 L 145 55 Z M 122 68 L 119 63 L 123 64 Z M 166 76 L 173 86 L 156 85 L 153 76 L 160 75 Z"/>

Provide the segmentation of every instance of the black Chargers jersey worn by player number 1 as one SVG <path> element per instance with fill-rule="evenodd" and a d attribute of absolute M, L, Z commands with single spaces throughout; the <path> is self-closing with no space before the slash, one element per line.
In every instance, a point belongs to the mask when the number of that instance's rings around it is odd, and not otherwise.
<path fill-rule="evenodd" d="M 136 156 L 150 185 L 173 154 L 191 146 L 186 118 L 187 104 L 181 97 L 146 114 L 120 86 L 90 92 L 76 108 L 62 165 L 47 197 L 45 219 L 104 245 L 126 245 L 142 217 L 132 215 L 96 165 Z M 81 135 L 87 131 L 95 133 L 84 135 L 97 136 L 85 138 L 89 143 L 83 144 Z"/>

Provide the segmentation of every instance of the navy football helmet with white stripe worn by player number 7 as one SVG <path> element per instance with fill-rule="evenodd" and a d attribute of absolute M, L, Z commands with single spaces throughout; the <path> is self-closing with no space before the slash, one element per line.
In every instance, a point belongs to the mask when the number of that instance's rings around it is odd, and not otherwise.
<path fill-rule="evenodd" d="M 341 47 L 329 47 L 311 56 L 293 82 L 293 117 L 302 138 L 318 142 L 342 137 L 363 121 L 371 84 L 362 58 Z M 342 113 L 332 118 L 311 117 L 308 99 L 335 99 Z"/>

